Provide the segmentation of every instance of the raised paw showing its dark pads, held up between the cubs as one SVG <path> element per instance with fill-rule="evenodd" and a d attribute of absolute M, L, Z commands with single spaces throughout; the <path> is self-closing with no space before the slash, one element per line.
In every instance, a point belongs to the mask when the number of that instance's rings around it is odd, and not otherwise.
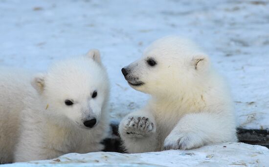
<path fill-rule="evenodd" d="M 147 117 L 131 116 L 123 121 L 121 135 L 127 135 L 128 137 L 148 137 L 155 133 L 155 125 Z"/>

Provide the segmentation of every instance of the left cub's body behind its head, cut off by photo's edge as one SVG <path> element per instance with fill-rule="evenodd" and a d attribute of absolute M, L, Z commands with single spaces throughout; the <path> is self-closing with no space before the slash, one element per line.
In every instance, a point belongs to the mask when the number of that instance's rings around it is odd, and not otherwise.
<path fill-rule="evenodd" d="M 13 160 L 23 99 L 35 95 L 33 91 L 30 72 L 0 67 L 0 163 Z"/>

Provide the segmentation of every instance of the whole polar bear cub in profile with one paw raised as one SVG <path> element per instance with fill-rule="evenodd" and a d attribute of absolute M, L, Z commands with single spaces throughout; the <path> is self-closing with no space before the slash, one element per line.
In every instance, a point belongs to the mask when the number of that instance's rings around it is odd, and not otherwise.
<path fill-rule="evenodd" d="M 119 125 L 127 152 L 237 141 L 229 90 L 195 43 L 173 36 L 159 39 L 122 73 L 130 86 L 152 96 Z"/>

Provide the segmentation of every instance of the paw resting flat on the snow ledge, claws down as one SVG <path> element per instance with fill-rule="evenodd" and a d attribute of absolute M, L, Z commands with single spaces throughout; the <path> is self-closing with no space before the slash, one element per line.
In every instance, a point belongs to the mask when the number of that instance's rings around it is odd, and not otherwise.
<path fill-rule="evenodd" d="M 164 150 L 192 149 L 203 145 L 202 138 L 193 133 L 169 134 L 164 140 Z"/>

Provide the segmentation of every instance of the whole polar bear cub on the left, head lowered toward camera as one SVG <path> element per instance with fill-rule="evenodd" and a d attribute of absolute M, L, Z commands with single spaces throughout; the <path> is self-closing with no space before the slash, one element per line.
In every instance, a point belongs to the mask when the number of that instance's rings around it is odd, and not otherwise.
<path fill-rule="evenodd" d="M 0 163 L 102 150 L 108 98 L 98 50 L 55 63 L 33 79 L 28 72 L 2 69 Z"/>

